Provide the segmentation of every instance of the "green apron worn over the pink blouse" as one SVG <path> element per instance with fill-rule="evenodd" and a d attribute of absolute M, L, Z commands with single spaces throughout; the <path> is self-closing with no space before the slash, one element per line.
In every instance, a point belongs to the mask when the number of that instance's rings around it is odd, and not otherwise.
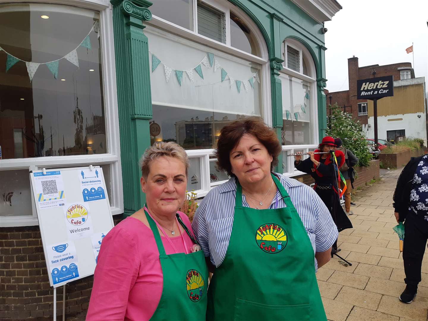
<path fill-rule="evenodd" d="M 145 213 L 158 245 L 163 273 L 162 296 L 150 320 L 205 320 L 208 268 L 203 251 L 166 255 L 157 223 L 147 211 Z M 197 244 L 180 216 L 176 214 L 176 217 L 190 239 Z M 159 228 L 163 231 L 162 227 Z"/>

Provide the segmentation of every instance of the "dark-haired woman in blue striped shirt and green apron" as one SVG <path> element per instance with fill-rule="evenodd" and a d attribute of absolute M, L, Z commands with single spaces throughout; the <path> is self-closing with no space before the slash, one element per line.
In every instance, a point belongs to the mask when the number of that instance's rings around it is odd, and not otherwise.
<path fill-rule="evenodd" d="M 280 152 L 276 132 L 259 118 L 220 133 L 217 165 L 231 178 L 205 196 L 193 220 L 214 268 L 207 320 L 326 320 L 315 270 L 330 260 L 337 228 L 314 190 L 272 172 Z"/>

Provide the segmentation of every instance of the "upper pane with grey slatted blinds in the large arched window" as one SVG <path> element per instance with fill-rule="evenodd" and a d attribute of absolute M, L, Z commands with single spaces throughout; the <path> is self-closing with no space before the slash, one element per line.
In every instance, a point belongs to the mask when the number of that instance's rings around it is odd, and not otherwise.
<path fill-rule="evenodd" d="M 226 43 L 224 12 L 198 2 L 198 33 L 218 42 Z"/>

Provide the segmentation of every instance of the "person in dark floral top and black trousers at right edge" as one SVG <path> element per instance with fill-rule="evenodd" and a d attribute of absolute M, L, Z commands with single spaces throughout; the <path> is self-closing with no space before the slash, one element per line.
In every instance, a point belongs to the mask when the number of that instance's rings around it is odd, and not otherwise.
<path fill-rule="evenodd" d="M 399 299 L 411 303 L 421 282 L 422 259 L 428 239 L 428 155 L 412 158 L 394 192 L 397 223 L 404 222 L 403 261 L 406 288 Z"/>

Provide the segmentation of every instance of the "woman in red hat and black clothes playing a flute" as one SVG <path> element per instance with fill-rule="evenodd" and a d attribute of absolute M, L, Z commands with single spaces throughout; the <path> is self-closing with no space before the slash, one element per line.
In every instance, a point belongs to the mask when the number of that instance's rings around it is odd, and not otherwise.
<path fill-rule="evenodd" d="M 337 189 L 337 170 L 333 166 L 334 159 L 332 159 L 330 150 L 334 150 L 336 145 L 334 144 L 334 138 L 327 136 L 321 141 L 318 149 L 315 152 L 309 152 L 310 158 L 301 160 L 302 156 L 294 156 L 294 167 L 296 169 L 305 172 L 315 179 L 315 192 L 322 199 L 324 204 L 330 211 L 339 232 L 343 229 L 352 227 L 351 222 L 346 217 L 343 208 L 340 206 L 339 198 L 335 189 Z M 325 154 L 315 154 L 324 152 Z M 345 155 L 343 152 L 336 150 L 334 151 L 337 159 L 339 168 L 345 162 Z M 297 153 L 300 154 L 300 153 Z M 302 153 L 303 154 L 303 153 Z M 332 253 L 336 253 L 337 244 L 333 244 Z"/>

